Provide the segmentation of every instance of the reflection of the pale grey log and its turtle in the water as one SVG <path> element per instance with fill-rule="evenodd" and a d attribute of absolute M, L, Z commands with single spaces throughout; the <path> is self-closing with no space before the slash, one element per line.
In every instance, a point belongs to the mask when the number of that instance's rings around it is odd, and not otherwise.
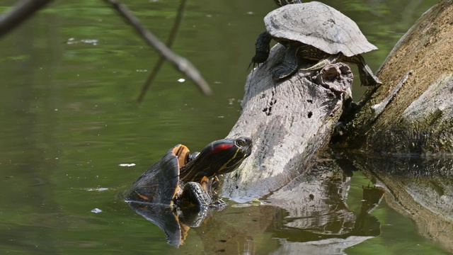
<path fill-rule="evenodd" d="M 265 205 L 229 206 L 195 232 L 205 240 L 205 251 L 338 254 L 380 234 L 380 222 L 369 212 L 384 189 L 364 186 L 360 211 L 353 212 L 346 203 L 352 174 L 335 160 L 321 160 L 265 198 Z"/>

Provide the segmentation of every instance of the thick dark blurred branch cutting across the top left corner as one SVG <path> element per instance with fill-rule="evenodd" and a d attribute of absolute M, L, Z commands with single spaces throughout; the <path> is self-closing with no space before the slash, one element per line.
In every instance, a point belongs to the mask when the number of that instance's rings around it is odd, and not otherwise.
<path fill-rule="evenodd" d="M 40 10 L 52 0 L 23 0 L 19 1 L 11 11 L 0 16 L 0 37 L 16 28 L 19 24 Z"/>

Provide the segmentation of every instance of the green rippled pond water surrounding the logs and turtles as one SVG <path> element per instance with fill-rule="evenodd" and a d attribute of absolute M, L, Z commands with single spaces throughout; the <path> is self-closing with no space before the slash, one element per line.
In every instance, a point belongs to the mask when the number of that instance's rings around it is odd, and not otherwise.
<path fill-rule="evenodd" d="M 2 1 L 0 11 L 15 2 Z M 124 2 L 166 40 L 180 1 Z M 374 71 L 437 3 L 323 2 L 379 47 L 364 55 Z M 200 150 L 229 133 L 256 35 L 273 8 L 270 0 L 188 1 L 173 50 L 214 94 L 203 96 L 166 63 L 140 106 L 135 99 L 158 55 L 103 1 L 54 1 L 0 38 L 0 254 L 449 254 L 386 199 L 369 214 L 379 234 L 333 249 L 319 244 L 326 234 L 288 227 L 283 209 L 233 201 L 176 249 L 125 203 L 122 192 L 169 148 Z M 365 88 L 355 83 L 358 99 Z M 345 202 L 358 213 L 372 179 L 350 169 L 349 181 Z M 231 231 L 235 221 L 246 223 Z"/>

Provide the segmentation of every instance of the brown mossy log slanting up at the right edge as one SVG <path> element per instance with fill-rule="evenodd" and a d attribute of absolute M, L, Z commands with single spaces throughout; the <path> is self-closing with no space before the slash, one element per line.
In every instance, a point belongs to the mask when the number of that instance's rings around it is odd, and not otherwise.
<path fill-rule="evenodd" d="M 377 152 L 453 152 L 452 0 L 423 14 L 378 71 L 362 108 L 336 137 L 343 146 Z"/>

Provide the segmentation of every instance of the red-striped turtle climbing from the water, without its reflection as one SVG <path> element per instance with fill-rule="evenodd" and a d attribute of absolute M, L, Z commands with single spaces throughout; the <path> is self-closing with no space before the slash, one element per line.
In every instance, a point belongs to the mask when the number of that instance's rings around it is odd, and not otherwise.
<path fill-rule="evenodd" d="M 251 154 L 248 137 L 211 142 L 190 156 L 188 147 L 176 145 L 132 184 L 127 201 L 172 206 L 175 202 L 210 205 L 214 177 L 234 171 Z"/>

